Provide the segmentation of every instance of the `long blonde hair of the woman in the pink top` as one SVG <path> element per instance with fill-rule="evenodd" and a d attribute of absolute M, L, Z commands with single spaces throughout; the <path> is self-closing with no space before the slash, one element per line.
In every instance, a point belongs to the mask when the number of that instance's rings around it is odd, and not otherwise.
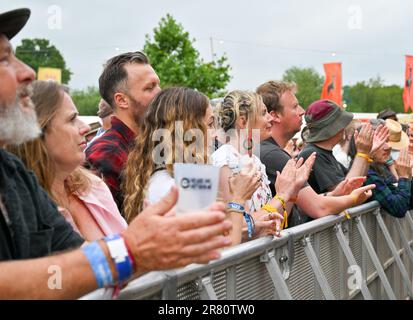
<path fill-rule="evenodd" d="M 47 191 L 49 196 L 59 205 L 63 201 L 52 191 L 53 179 L 55 177 L 55 165 L 50 158 L 44 142 L 44 135 L 49 130 L 50 123 L 59 111 L 63 94 L 67 89 L 51 81 L 34 81 L 32 101 L 35 107 L 37 121 L 42 130 L 42 135 L 32 141 L 25 142 L 18 146 L 8 145 L 6 149 L 16 154 L 25 163 L 26 167 L 33 170 L 40 185 Z M 88 172 L 81 167 L 77 168 L 65 181 L 65 188 L 68 193 L 88 192 L 90 180 Z"/>

